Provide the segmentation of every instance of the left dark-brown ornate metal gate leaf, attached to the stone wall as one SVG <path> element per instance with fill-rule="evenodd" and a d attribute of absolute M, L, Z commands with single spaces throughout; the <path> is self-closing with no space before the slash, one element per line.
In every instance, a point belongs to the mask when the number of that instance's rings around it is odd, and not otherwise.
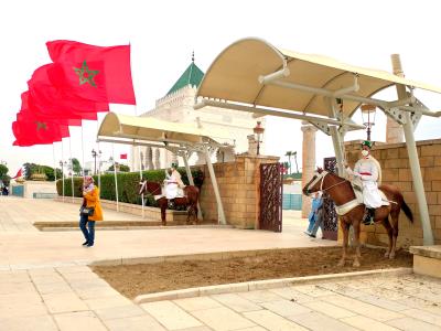
<path fill-rule="evenodd" d="M 281 163 L 260 164 L 260 215 L 259 227 L 282 232 L 282 180 Z"/>

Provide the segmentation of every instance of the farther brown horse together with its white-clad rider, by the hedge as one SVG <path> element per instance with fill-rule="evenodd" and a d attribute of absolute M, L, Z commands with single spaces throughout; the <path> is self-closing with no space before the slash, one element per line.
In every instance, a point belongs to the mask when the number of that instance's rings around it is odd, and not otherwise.
<path fill-rule="evenodd" d="M 178 172 L 176 163 L 172 163 L 171 169 L 165 170 L 164 189 L 157 182 L 140 182 L 139 194 L 147 192 L 154 196 L 161 209 L 162 225 L 166 224 L 166 207 L 174 209 L 175 206 L 184 206 L 187 210 L 186 222 L 190 223 L 190 217 L 193 215 L 193 224 L 197 224 L 200 189 L 193 185 L 184 185 L 181 174 Z"/>

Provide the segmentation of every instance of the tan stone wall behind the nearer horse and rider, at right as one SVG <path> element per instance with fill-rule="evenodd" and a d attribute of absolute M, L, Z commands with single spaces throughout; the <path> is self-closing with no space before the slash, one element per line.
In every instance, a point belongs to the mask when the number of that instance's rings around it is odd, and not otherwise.
<path fill-rule="evenodd" d="M 441 139 L 417 142 L 421 174 L 424 182 L 426 199 L 435 244 L 441 244 Z M 361 157 L 361 141 L 345 143 L 346 159 L 353 168 Z M 399 217 L 398 247 L 422 245 L 422 227 L 418 212 L 417 199 L 413 192 L 412 174 L 406 143 L 376 143 L 373 156 L 383 169 L 383 183 L 398 186 L 406 203 L 413 213 L 411 224 L 401 211 Z M 383 225 L 363 226 L 361 239 L 363 243 L 383 245 L 388 243 L 388 236 Z"/>

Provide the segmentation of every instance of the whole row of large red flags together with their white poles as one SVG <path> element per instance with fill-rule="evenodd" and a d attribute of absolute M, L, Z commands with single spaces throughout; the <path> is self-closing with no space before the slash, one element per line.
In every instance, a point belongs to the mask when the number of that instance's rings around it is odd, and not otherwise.
<path fill-rule="evenodd" d="M 130 45 L 96 46 L 58 40 L 47 42 L 46 46 L 52 63 L 36 68 L 28 81 L 28 90 L 21 95 L 21 109 L 17 114 L 17 120 L 12 122 L 12 131 L 15 136 L 13 145 L 52 143 L 54 146 L 55 142 L 61 141 L 63 158 L 63 138 L 69 138 L 71 168 L 73 169 L 69 127 L 79 126 L 82 127 L 84 169 L 83 120 L 97 120 L 97 113 L 108 111 L 109 104 L 136 105 Z M 115 152 L 112 153 L 118 210 Z M 63 168 L 62 173 L 64 199 Z M 71 180 L 74 199 L 73 175 Z M 98 186 L 99 181 L 98 172 Z"/>

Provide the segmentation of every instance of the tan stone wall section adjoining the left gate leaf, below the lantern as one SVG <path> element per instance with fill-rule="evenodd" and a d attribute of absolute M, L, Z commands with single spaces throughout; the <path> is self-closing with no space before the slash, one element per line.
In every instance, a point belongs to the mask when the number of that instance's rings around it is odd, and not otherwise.
<path fill-rule="evenodd" d="M 239 228 L 259 227 L 259 166 L 278 160 L 277 157 L 243 154 L 237 156 L 235 162 L 213 164 L 227 224 Z M 200 199 L 204 221 L 217 221 L 217 205 L 208 168 L 200 168 L 205 173 Z"/>

